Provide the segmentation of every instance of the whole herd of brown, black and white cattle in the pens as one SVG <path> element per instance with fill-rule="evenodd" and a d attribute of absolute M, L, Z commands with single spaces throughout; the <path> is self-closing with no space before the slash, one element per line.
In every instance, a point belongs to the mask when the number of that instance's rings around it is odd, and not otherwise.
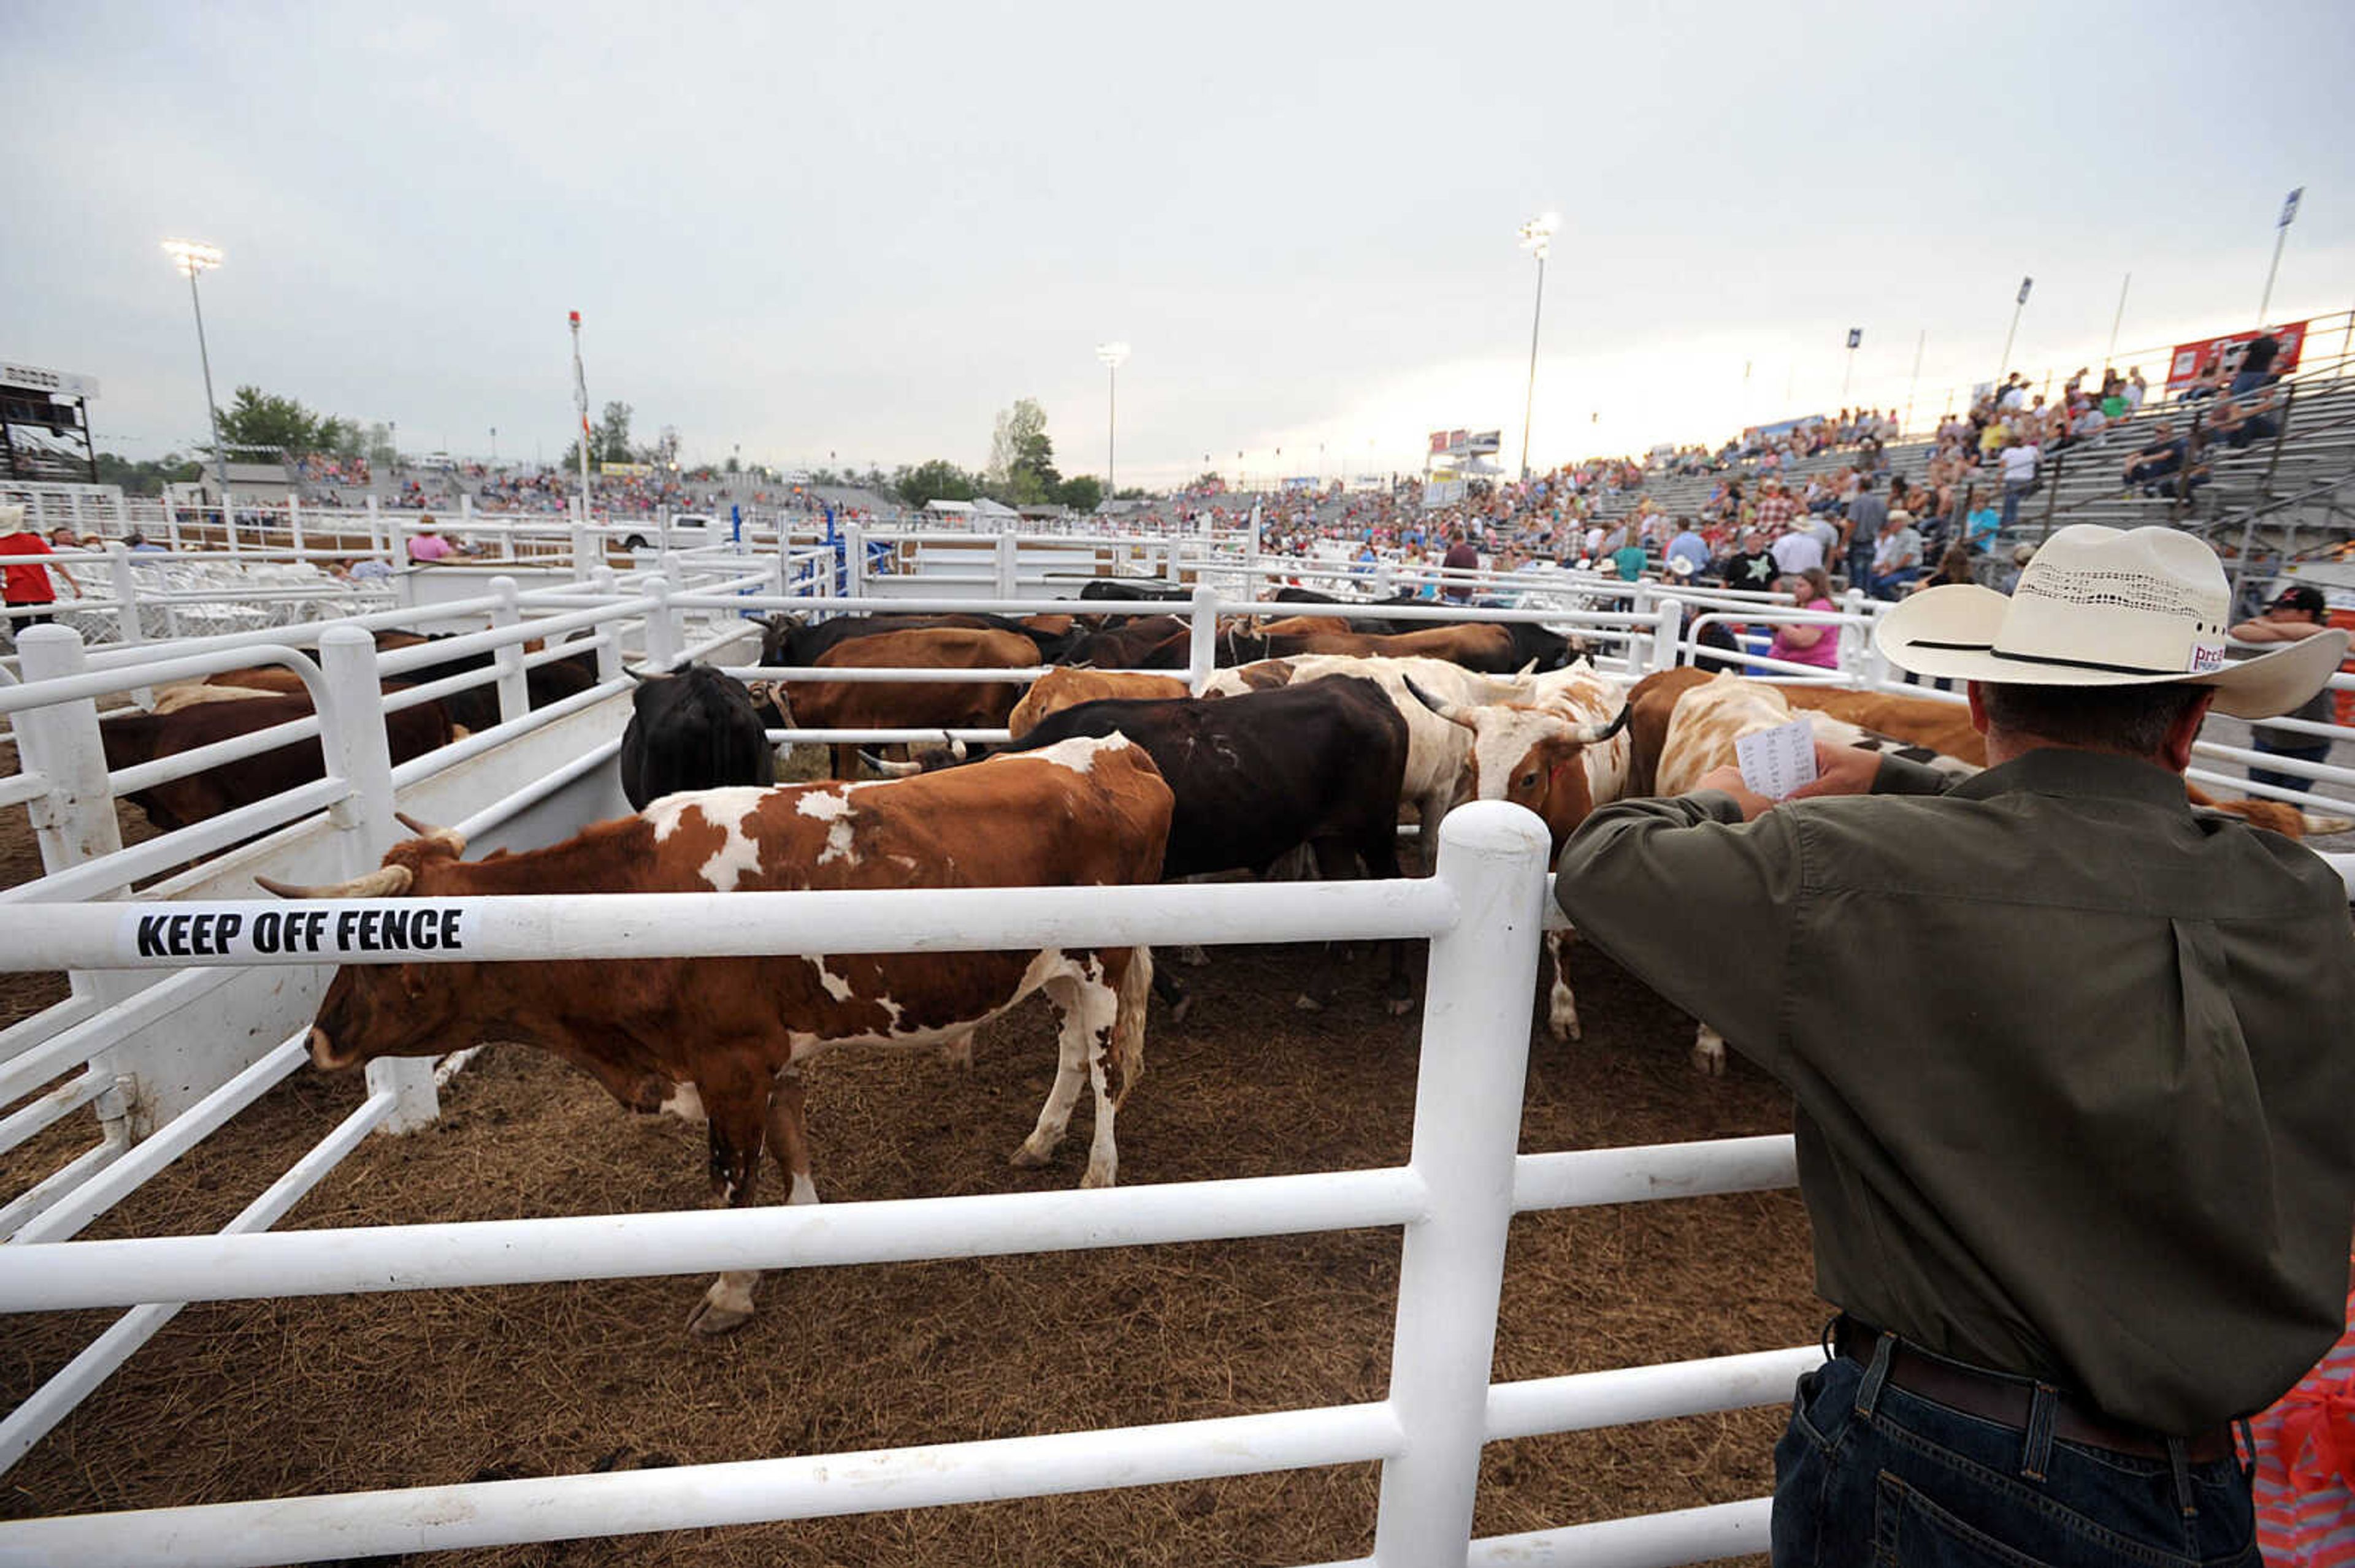
<path fill-rule="evenodd" d="M 1378 624 L 1378 622 L 1375 622 Z M 1305 855 L 1326 878 L 1401 873 L 1401 822 L 1420 829 L 1432 871 L 1439 819 L 1462 800 L 1535 812 L 1554 848 L 1597 808 L 1677 793 L 1733 760 L 1736 742 L 1804 716 L 1820 742 L 1908 749 L 1952 772 L 1985 765 L 1962 711 L 1929 697 L 1778 685 L 1674 669 L 1597 669 L 1538 626 L 1462 622 L 1406 633 L 1328 619 L 1236 619 L 1218 629 L 1218 669 L 1189 687 L 1192 629 L 1178 617 L 1083 612 L 780 617 L 763 638 L 777 680 L 711 669 L 650 673 L 633 692 L 622 786 L 633 817 L 523 855 L 462 859 L 447 831 L 309 897 L 455 897 L 483 892 L 732 892 L 803 888 L 1053 888 L 1194 876 L 1265 876 Z M 989 671 L 1034 671 L 991 678 Z M 834 669 L 918 671 L 909 680 L 827 680 Z M 921 671 L 982 671 L 923 680 Z M 417 671 L 431 680 L 443 671 Z M 532 671 L 532 702 L 593 683 L 584 657 Z M 181 692 L 148 716 L 108 720 L 108 763 L 181 751 L 224 732 L 283 723 L 309 699 L 245 685 L 236 702 Z M 219 697 L 219 692 L 214 692 Z M 487 697 L 487 692 L 483 695 Z M 188 704 L 188 706 L 179 706 Z M 410 756 L 495 711 L 419 704 L 398 713 L 393 753 Z M 162 704 L 160 704 L 162 706 Z M 240 718 L 210 718 L 238 713 Z M 768 727 L 1008 730 L 996 746 L 942 744 L 862 756 L 834 746 L 831 777 L 775 784 Z M 226 725 L 226 730 L 224 730 Z M 238 727 L 243 725 L 243 730 Z M 120 737 L 120 742 L 118 742 Z M 120 746 L 120 756 L 118 756 Z M 207 798 L 146 800 L 186 822 L 299 782 L 304 746 L 236 768 Z M 318 758 L 311 751 L 311 777 Z M 883 777 L 862 777 L 867 770 Z M 268 789 L 264 789 L 268 786 Z M 2266 826 L 2331 831 L 2289 808 L 2235 803 Z M 1575 1038 L 1561 942 L 1545 1017 Z M 1159 991 L 1170 1019 L 1185 991 L 1147 949 L 645 958 L 440 965 L 424 986 L 400 968 L 341 970 L 311 1031 L 318 1067 L 382 1055 L 438 1055 L 520 1041 L 589 1071 L 633 1111 L 706 1125 L 721 1203 L 749 1203 L 763 1149 L 791 1203 L 815 1203 L 803 1130 L 803 1067 L 841 1045 L 921 1048 L 970 1059 L 973 1031 L 1046 994 L 1060 1012 L 1055 1078 L 1015 1163 L 1046 1163 L 1083 1090 L 1093 1095 L 1086 1184 L 1116 1172 L 1114 1118 L 1145 1067 L 1145 1015 Z M 1331 994 L 1331 972 L 1302 1005 Z M 1387 968 L 1392 1010 L 1413 1008 L 1404 944 Z M 1698 1019 L 1696 1067 L 1724 1071 L 1724 1043 Z M 718 1278 L 690 1326 L 723 1333 L 751 1316 L 754 1276 Z"/>

